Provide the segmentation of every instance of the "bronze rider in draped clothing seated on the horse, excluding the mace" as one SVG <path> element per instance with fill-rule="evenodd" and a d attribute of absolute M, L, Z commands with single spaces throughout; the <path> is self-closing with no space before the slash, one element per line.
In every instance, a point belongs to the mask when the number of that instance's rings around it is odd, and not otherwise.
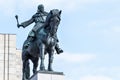
<path fill-rule="evenodd" d="M 23 28 L 26 28 L 28 25 L 35 22 L 33 29 L 28 34 L 28 37 L 27 37 L 28 43 L 25 44 L 25 46 L 29 46 L 29 44 L 35 39 L 35 33 L 39 28 L 43 26 L 43 24 L 46 21 L 47 15 L 48 13 L 44 11 L 44 6 L 40 4 L 38 5 L 37 13 L 35 13 L 30 20 L 25 21 L 18 25 L 18 27 L 22 26 Z M 57 36 L 55 36 L 55 38 L 58 40 Z M 58 54 L 63 52 L 63 50 L 59 48 L 58 44 L 56 44 L 55 49 Z"/>

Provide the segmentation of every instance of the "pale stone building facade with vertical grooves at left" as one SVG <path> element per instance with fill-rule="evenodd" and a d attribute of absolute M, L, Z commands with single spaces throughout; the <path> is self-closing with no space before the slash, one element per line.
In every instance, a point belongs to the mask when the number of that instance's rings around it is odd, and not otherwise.
<path fill-rule="evenodd" d="M 0 34 L 0 80 L 22 80 L 21 50 L 15 34 Z"/>

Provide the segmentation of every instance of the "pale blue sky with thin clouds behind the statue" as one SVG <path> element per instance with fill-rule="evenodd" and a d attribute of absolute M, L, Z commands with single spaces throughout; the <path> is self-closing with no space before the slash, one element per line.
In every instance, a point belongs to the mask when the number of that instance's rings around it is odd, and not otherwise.
<path fill-rule="evenodd" d="M 57 35 L 64 53 L 55 54 L 54 71 L 65 80 L 120 80 L 120 0 L 0 0 L 0 33 L 16 34 L 18 49 L 34 24 L 17 28 L 14 16 L 26 21 L 39 4 L 62 10 Z"/>

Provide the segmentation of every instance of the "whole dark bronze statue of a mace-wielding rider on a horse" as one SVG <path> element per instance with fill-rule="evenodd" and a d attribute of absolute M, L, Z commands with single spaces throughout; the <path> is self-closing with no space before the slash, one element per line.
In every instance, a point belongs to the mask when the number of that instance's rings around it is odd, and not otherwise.
<path fill-rule="evenodd" d="M 41 5 L 38 6 L 38 9 Z M 43 5 L 42 5 L 43 7 Z M 41 8 L 40 8 L 41 9 Z M 44 11 L 44 7 L 43 10 Z M 43 19 L 43 16 L 46 16 L 46 20 Z M 38 67 L 38 60 L 39 57 L 40 61 L 40 70 L 44 71 L 44 58 L 45 54 L 48 53 L 49 55 L 49 62 L 48 62 L 48 71 L 53 71 L 52 69 L 52 62 L 53 62 L 53 55 L 54 51 L 58 54 L 62 53 L 63 50 L 58 46 L 58 38 L 57 38 L 57 29 L 60 23 L 60 15 L 61 11 L 58 9 L 53 9 L 49 13 L 43 12 L 38 10 L 38 12 L 32 17 L 32 19 L 19 24 L 18 16 L 17 19 L 17 26 L 26 27 L 29 24 L 35 22 L 34 28 L 28 35 L 26 41 L 23 44 L 22 48 L 22 61 L 23 61 L 23 80 L 29 79 L 30 77 L 30 67 L 29 67 L 29 59 L 33 62 L 33 73 L 37 71 Z M 43 22 L 41 20 L 43 20 Z"/>

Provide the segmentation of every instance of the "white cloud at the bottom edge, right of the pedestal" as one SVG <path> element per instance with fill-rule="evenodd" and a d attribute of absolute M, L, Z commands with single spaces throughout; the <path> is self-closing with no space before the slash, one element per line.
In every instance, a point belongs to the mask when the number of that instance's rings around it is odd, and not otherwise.
<path fill-rule="evenodd" d="M 84 76 L 80 80 L 112 80 L 112 78 L 106 76 Z"/>

